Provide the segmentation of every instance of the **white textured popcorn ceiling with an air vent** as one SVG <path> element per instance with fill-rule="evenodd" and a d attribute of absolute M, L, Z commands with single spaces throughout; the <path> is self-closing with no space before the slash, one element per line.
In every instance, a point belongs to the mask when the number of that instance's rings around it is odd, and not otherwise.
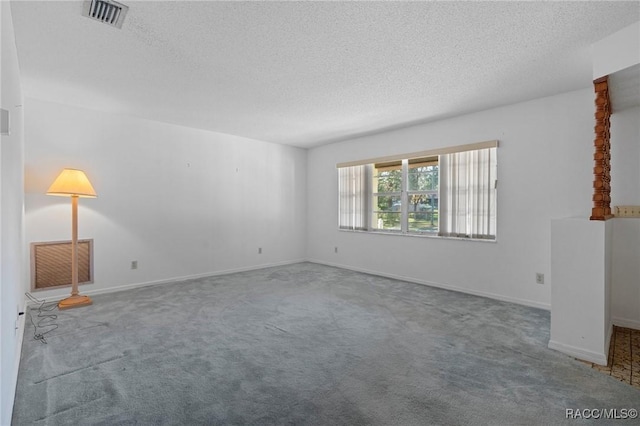
<path fill-rule="evenodd" d="M 16 1 L 25 95 L 309 147 L 591 87 L 640 2 Z"/>

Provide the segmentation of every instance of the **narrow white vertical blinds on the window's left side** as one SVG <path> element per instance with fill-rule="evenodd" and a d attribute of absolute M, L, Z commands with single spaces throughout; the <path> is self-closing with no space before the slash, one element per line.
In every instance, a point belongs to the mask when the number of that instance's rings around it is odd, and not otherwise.
<path fill-rule="evenodd" d="M 338 221 L 341 229 L 367 229 L 366 165 L 338 169 Z"/>

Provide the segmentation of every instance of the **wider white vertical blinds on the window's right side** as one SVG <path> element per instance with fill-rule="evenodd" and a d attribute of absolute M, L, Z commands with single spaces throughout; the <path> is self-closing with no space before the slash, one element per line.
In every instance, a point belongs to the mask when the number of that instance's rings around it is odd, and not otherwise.
<path fill-rule="evenodd" d="M 495 239 L 496 151 L 440 156 L 439 235 Z"/>

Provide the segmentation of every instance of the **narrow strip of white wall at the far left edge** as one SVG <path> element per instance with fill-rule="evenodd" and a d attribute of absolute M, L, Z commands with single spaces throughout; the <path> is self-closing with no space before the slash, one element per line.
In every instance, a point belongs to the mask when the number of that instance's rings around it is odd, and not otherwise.
<path fill-rule="evenodd" d="M 24 320 L 22 91 L 9 2 L 0 2 L 1 107 L 9 110 L 11 134 L 0 137 L 0 424 L 11 422 Z M 19 308 L 20 307 L 20 308 Z"/>

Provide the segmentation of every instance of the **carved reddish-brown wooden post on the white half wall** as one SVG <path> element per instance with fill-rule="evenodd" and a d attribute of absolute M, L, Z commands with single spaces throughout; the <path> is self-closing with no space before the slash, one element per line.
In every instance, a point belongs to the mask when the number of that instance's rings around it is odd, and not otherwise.
<path fill-rule="evenodd" d="M 595 154 L 593 160 L 593 208 L 591 220 L 606 220 L 611 214 L 611 141 L 609 135 L 611 103 L 609 102 L 608 77 L 594 80 L 596 93 Z"/>

